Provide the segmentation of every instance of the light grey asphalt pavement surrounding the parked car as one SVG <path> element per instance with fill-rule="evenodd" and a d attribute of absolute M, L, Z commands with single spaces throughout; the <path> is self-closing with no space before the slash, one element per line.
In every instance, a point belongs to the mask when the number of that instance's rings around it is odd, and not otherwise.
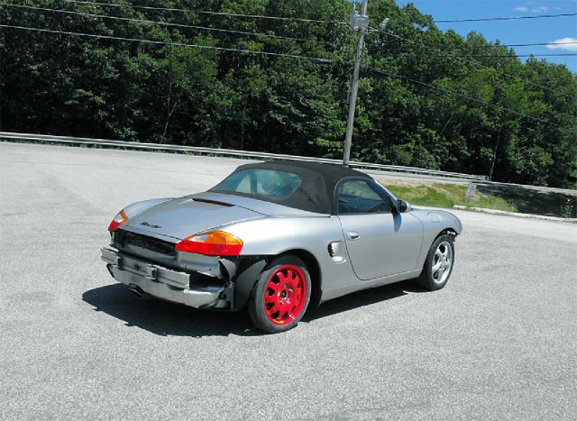
<path fill-rule="evenodd" d="M 570 419 L 577 224 L 455 211 L 447 287 L 325 303 L 285 334 L 139 300 L 111 218 L 246 160 L 0 142 L 0 417 Z"/>

